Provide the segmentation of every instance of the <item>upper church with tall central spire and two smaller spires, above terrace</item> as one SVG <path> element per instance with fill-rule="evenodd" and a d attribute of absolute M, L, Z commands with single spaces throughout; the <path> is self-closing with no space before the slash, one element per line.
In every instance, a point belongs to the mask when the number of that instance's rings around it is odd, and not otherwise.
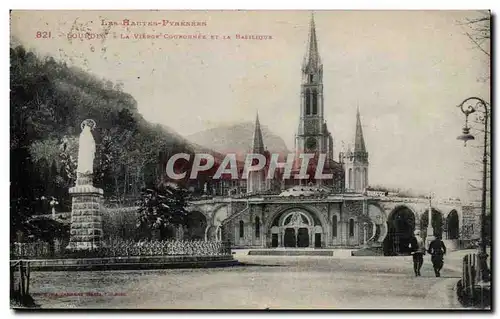
<path fill-rule="evenodd" d="M 283 170 L 279 170 L 276 179 L 283 180 L 279 185 L 283 194 L 292 191 L 293 186 L 309 186 L 323 193 L 363 193 L 368 187 L 368 152 L 366 151 L 363 138 L 363 129 L 359 109 L 356 116 L 356 134 L 354 137 L 354 150 L 340 152 L 338 161 L 333 155 L 333 137 L 328 130 L 324 119 L 325 105 L 323 94 L 323 65 L 318 50 L 318 40 L 314 24 L 311 18 L 308 44 L 302 64 L 302 79 L 300 86 L 300 110 L 299 125 L 295 135 L 295 161 L 292 173 L 299 173 L 300 154 L 313 155 L 312 165 L 308 166 L 308 176 L 301 179 L 282 178 Z M 354 122 L 354 121 L 353 121 Z M 252 153 L 262 154 L 269 157 L 270 153 L 265 147 L 262 138 L 259 118 L 255 121 L 255 132 L 253 136 Z M 321 156 L 322 155 L 322 156 Z M 318 159 L 323 158 L 322 163 Z M 323 174 L 329 174 L 329 179 L 315 179 L 314 169 L 320 165 Z M 266 182 L 266 169 L 253 171 L 246 179 L 246 193 L 259 194 L 275 191 L 269 181 Z M 311 188 L 313 187 L 313 188 Z M 300 189 L 300 188 L 298 188 Z"/>

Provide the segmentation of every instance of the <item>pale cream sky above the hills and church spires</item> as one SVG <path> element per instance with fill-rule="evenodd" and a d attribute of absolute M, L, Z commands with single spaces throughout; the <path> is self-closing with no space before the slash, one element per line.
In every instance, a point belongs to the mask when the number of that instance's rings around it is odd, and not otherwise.
<path fill-rule="evenodd" d="M 28 48 L 123 83 L 150 122 L 182 135 L 253 121 L 290 149 L 298 127 L 310 11 L 25 11 L 11 34 Z M 460 22 L 477 11 L 316 11 L 325 119 L 334 152 L 354 142 L 359 107 L 369 184 L 467 198 L 482 137 L 456 140 L 469 96 L 489 101 L 489 59 Z M 198 26 L 104 26 L 122 21 Z M 102 34 L 105 39 L 74 39 Z M 37 32 L 41 32 L 37 38 Z M 43 38 L 48 35 L 50 38 Z M 135 39 L 134 34 L 160 35 Z M 205 35 L 164 39 L 165 34 Z M 237 39 L 236 35 L 268 39 Z M 128 35 L 130 38 L 124 38 Z M 218 39 L 211 40 L 212 35 Z M 229 36 L 230 39 L 224 38 Z M 271 37 L 269 39 L 269 37 Z M 479 140 L 479 141 L 478 141 Z M 265 142 L 265 141 L 264 141 Z"/>

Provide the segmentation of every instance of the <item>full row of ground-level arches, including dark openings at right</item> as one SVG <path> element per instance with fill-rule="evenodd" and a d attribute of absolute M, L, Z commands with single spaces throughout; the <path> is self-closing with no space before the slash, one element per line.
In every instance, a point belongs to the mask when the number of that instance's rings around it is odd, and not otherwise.
<path fill-rule="evenodd" d="M 331 205 L 330 212 L 318 217 L 308 207 L 289 208 L 264 215 L 258 205 L 248 213 L 223 222 L 208 219 L 199 211 L 188 216 L 183 237 L 195 240 L 229 240 L 233 247 L 326 248 L 382 245 L 385 255 L 409 254 L 409 241 L 415 229 L 426 238 L 428 213 L 416 215 L 412 209 L 398 206 L 386 218 L 380 206 L 369 204 L 367 214 L 355 213 L 349 206 Z M 342 212 L 342 213 L 341 213 Z M 266 218 L 267 217 L 267 218 Z M 445 217 L 432 211 L 434 234 L 443 239 L 459 238 L 459 215 L 452 210 Z"/>

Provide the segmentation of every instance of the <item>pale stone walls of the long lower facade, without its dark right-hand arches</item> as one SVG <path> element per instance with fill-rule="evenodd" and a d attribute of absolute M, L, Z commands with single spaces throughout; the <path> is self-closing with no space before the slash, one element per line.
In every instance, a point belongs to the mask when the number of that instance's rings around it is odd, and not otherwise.
<path fill-rule="evenodd" d="M 394 236 L 389 228 L 400 210 L 414 212 L 409 216 L 414 221 L 413 228 L 405 234 L 411 235 L 420 228 L 429 205 L 428 200 L 420 198 L 308 194 L 214 198 L 192 202 L 190 210 L 206 217 L 207 229 L 220 229 L 219 235 L 208 231 L 207 240 L 229 241 L 233 248 L 360 248 L 380 247 L 389 236 Z M 460 202 L 435 203 L 433 210 L 442 214 L 445 231 L 452 213 L 458 218 L 456 227 L 462 227 Z M 443 238 L 447 239 L 446 234 Z"/>

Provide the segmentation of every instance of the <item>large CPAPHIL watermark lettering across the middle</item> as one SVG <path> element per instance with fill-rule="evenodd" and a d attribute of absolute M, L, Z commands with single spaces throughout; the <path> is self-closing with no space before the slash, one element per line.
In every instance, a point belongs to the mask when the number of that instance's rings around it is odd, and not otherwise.
<path fill-rule="evenodd" d="M 325 174 L 326 154 L 315 153 L 290 153 L 284 162 L 279 161 L 280 154 L 247 154 L 245 160 L 237 161 L 236 154 L 227 154 L 213 175 L 213 179 L 221 179 L 222 176 L 230 179 L 247 179 L 251 172 L 264 171 L 267 179 L 274 179 L 277 170 L 282 170 L 283 179 L 308 179 L 314 172 L 315 179 L 332 179 L 333 174 Z M 171 156 L 166 165 L 166 174 L 173 180 L 185 179 L 188 169 L 180 171 L 175 169 L 176 165 L 184 161 L 184 164 L 191 162 L 191 155 L 187 153 L 177 153 Z M 300 162 L 300 164 L 299 164 Z M 189 179 L 197 179 L 198 174 L 212 170 L 215 166 L 215 158 L 208 153 L 198 153 L 194 155 Z M 184 165 L 185 167 L 185 165 Z M 292 171 L 295 172 L 292 175 Z M 241 175 L 239 172 L 242 172 Z"/>

